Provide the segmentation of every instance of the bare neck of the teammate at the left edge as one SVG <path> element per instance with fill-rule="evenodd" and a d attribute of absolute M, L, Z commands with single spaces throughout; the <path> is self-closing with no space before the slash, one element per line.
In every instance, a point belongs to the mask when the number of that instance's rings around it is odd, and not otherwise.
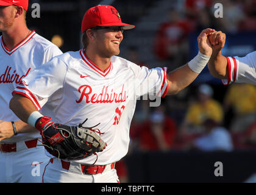
<path fill-rule="evenodd" d="M 7 31 L 2 32 L 4 44 L 8 49 L 12 50 L 16 45 L 21 43 L 29 34 L 30 30 L 26 25 L 16 25 Z"/>

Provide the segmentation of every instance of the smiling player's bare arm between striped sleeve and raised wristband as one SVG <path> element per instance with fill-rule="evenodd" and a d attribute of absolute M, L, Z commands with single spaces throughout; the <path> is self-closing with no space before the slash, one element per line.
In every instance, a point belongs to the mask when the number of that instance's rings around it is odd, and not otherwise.
<path fill-rule="evenodd" d="M 187 65 L 184 65 L 168 74 L 168 94 L 176 94 L 187 87 L 196 79 L 199 73 L 194 73 Z"/>

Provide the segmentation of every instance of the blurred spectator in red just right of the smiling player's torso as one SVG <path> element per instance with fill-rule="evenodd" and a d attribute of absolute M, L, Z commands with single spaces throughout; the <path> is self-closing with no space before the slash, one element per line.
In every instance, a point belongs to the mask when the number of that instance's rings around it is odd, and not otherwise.
<path fill-rule="evenodd" d="M 136 137 L 142 151 L 166 151 L 172 148 L 176 137 L 176 122 L 165 115 L 165 105 L 155 107 Z"/>

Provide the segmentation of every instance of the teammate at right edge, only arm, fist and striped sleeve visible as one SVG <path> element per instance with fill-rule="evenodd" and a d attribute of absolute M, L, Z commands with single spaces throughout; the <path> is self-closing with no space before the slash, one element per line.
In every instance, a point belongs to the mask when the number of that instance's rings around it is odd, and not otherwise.
<path fill-rule="evenodd" d="M 244 57 L 225 57 L 221 49 L 224 48 L 226 34 L 216 31 L 209 35 L 208 40 L 213 48 L 208 69 L 214 77 L 222 79 L 224 85 L 233 82 L 256 85 L 256 51 Z"/>

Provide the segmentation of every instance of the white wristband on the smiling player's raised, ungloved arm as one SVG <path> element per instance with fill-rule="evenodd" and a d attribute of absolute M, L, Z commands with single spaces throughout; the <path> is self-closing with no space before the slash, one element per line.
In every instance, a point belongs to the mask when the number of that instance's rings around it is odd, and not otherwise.
<path fill-rule="evenodd" d="M 188 66 L 194 73 L 201 73 L 209 60 L 210 56 L 204 55 L 199 51 L 196 57 L 188 62 Z"/>

